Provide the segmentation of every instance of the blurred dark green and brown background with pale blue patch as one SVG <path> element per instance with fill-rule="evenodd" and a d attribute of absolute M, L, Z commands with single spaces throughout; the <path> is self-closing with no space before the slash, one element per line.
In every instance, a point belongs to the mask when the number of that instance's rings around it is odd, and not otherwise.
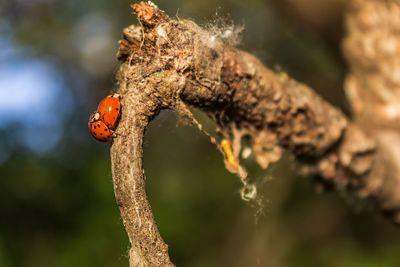
<path fill-rule="evenodd" d="M 244 26 L 240 47 L 348 110 L 343 0 L 162 0 L 170 15 Z M 0 267 L 128 266 L 109 144 L 87 131 L 115 87 L 130 1 L 0 0 Z M 201 113 L 197 116 L 212 127 Z M 400 231 L 338 193 L 317 194 L 289 160 L 247 166 L 263 216 L 195 128 L 171 112 L 145 140 L 148 194 L 178 266 L 400 266 Z"/>

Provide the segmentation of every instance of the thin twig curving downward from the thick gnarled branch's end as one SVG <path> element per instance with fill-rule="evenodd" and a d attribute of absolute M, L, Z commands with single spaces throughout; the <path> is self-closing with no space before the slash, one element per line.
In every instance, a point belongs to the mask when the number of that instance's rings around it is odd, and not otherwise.
<path fill-rule="evenodd" d="M 141 83 L 121 80 L 119 91 L 123 116 L 111 147 L 115 197 L 128 233 L 130 266 L 174 266 L 168 246 L 162 240 L 146 196 L 142 165 L 143 136 L 149 120 L 158 112 L 160 102 L 145 94 L 157 78 Z"/>

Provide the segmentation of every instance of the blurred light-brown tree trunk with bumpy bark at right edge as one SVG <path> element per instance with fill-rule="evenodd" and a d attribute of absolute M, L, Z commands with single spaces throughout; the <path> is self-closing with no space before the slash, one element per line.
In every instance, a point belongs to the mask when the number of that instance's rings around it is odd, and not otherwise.
<path fill-rule="evenodd" d="M 346 26 L 346 93 L 355 122 L 378 146 L 362 194 L 400 223 L 400 1 L 353 0 Z"/>

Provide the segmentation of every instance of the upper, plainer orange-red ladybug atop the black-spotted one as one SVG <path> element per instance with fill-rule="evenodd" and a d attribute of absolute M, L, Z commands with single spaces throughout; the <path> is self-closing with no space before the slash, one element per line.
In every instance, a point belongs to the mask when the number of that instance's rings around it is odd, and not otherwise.
<path fill-rule="evenodd" d="M 121 102 L 119 94 L 112 94 L 103 98 L 97 107 L 97 113 L 100 114 L 100 120 L 109 128 L 114 130 L 117 126 L 121 111 Z"/>

